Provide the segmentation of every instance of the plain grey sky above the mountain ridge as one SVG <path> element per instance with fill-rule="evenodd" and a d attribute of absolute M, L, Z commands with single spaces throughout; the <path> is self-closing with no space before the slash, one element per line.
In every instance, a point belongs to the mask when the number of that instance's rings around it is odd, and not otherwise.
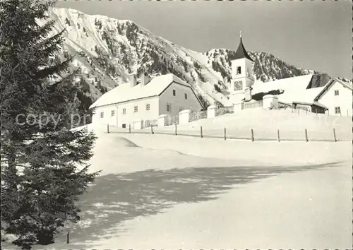
<path fill-rule="evenodd" d="M 197 52 L 237 50 L 241 30 L 249 51 L 352 79 L 350 1 L 66 0 L 56 6 L 132 20 Z"/>

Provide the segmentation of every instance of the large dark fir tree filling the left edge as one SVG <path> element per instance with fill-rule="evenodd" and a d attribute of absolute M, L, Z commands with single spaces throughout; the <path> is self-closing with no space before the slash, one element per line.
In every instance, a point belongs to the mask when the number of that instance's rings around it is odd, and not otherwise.
<path fill-rule="evenodd" d="M 64 41 L 64 30 L 49 37 L 54 4 L 1 1 L 1 230 L 22 249 L 51 244 L 66 222 L 80 220 L 76 201 L 98 174 L 85 165 L 95 136 L 70 130 L 72 57 L 49 60 Z"/>

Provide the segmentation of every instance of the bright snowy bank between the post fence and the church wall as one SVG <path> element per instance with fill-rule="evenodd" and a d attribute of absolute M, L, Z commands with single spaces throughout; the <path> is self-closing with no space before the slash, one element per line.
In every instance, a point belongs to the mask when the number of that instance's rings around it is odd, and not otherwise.
<path fill-rule="evenodd" d="M 306 113 L 303 110 L 266 110 L 263 108 L 243 109 L 235 114 L 225 114 L 210 119 L 200 119 L 189 124 L 177 125 L 177 134 L 223 138 L 225 129 L 227 138 L 251 139 L 251 129 L 256 141 L 277 141 L 277 130 L 281 141 L 305 141 L 305 129 L 309 141 L 334 141 L 335 129 L 338 141 L 352 140 L 352 117 L 328 116 Z M 102 126 L 107 131 L 107 125 Z M 116 129 L 110 132 L 127 132 L 128 129 Z M 175 126 L 153 128 L 155 133 L 174 134 Z M 150 133 L 150 128 L 132 130 L 133 133 Z"/>

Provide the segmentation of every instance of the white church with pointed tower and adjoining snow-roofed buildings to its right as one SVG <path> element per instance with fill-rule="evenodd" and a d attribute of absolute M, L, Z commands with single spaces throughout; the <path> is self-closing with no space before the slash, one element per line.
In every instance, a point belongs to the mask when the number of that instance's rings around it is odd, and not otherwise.
<path fill-rule="evenodd" d="M 229 100 L 234 105 L 234 111 L 244 109 L 246 105 L 265 108 L 285 105 L 309 112 L 352 116 L 352 82 L 332 78 L 324 86 L 312 88 L 313 74 L 266 83 L 255 81 L 253 59 L 244 48 L 241 34 L 237 52 L 231 62 Z"/>

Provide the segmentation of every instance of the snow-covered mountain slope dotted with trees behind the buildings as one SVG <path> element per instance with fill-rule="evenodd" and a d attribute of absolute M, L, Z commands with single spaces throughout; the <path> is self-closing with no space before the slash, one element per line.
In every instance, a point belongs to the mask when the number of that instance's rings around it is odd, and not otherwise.
<path fill-rule="evenodd" d="M 54 8 L 57 31 L 66 28 L 62 55 L 75 54 L 73 66 L 80 66 L 81 85 L 92 101 L 120 83 L 130 73 L 174 73 L 190 83 L 201 99 L 228 105 L 227 83 L 234 51 L 211 49 L 194 52 L 154 35 L 130 20 L 90 16 L 68 8 Z M 275 56 L 249 52 L 255 63 L 257 81 L 302 76 L 315 71 L 298 69 Z"/>

